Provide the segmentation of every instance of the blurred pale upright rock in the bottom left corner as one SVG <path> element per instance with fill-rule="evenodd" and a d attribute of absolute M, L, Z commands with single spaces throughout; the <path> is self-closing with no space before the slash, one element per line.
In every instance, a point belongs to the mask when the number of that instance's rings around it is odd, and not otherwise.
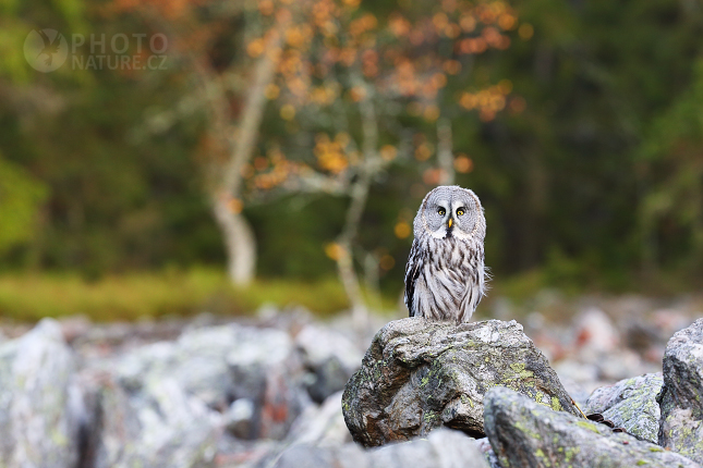
<path fill-rule="evenodd" d="M 66 468 L 78 463 L 82 395 L 60 325 L 44 319 L 0 345 L 0 465 Z"/>

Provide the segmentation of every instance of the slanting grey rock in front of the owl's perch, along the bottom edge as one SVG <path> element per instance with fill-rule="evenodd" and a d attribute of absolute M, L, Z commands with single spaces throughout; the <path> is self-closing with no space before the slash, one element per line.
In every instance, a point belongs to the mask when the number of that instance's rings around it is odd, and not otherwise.
<path fill-rule="evenodd" d="M 510 389 L 486 394 L 485 418 L 488 440 L 504 468 L 700 467 L 607 426 L 553 411 Z"/>

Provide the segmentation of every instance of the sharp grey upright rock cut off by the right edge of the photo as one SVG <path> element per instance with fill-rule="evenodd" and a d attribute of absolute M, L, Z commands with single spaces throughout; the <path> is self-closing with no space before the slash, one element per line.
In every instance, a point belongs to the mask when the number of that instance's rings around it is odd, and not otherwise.
<path fill-rule="evenodd" d="M 659 445 L 703 463 L 703 319 L 674 334 L 664 354 Z"/>

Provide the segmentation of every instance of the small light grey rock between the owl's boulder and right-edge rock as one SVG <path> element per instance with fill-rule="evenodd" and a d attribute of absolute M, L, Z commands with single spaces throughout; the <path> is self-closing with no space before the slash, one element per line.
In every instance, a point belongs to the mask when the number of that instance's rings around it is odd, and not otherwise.
<path fill-rule="evenodd" d="M 643 441 L 656 444 L 659 433 L 662 372 L 625 379 L 596 389 L 585 404 L 586 412 L 601 412 L 618 428 Z"/>

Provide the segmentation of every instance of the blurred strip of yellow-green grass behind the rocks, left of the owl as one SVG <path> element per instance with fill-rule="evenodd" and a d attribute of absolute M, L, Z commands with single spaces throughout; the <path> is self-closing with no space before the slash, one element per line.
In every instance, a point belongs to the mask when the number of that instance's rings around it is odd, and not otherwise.
<path fill-rule="evenodd" d="M 317 315 L 344 309 L 347 297 L 336 280 L 315 283 L 256 281 L 233 287 L 215 269 L 110 275 L 87 282 L 77 274 L 0 276 L 0 317 L 36 321 L 83 315 L 95 321 L 191 316 L 203 311 L 250 313 L 263 304 L 301 305 Z"/>

